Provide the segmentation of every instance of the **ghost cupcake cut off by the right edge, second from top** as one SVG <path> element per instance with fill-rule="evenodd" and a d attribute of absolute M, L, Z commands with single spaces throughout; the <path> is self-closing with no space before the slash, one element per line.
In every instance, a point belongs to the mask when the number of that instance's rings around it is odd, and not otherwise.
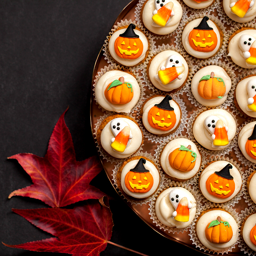
<path fill-rule="evenodd" d="M 229 38 L 228 54 L 242 68 L 256 68 L 256 30 L 242 27 Z"/>

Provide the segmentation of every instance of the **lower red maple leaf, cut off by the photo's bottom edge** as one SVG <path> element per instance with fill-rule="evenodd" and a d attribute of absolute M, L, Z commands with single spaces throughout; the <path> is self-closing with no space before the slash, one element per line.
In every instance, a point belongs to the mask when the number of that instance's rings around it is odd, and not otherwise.
<path fill-rule="evenodd" d="M 74 209 L 43 208 L 17 210 L 27 221 L 55 237 L 8 247 L 40 252 L 61 252 L 74 256 L 96 256 L 112 236 L 112 213 L 95 200 Z"/>

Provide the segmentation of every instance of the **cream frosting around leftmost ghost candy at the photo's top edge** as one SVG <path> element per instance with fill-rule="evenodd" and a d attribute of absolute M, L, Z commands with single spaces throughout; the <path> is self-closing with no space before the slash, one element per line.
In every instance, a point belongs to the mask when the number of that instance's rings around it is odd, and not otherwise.
<path fill-rule="evenodd" d="M 142 12 L 142 21 L 144 26 L 154 34 L 167 35 L 177 29 L 182 18 L 182 7 L 177 0 L 172 0 L 174 16 L 170 18 L 164 27 L 158 26 L 152 20 L 153 11 L 155 10 L 154 0 L 148 0 L 144 5 Z"/>

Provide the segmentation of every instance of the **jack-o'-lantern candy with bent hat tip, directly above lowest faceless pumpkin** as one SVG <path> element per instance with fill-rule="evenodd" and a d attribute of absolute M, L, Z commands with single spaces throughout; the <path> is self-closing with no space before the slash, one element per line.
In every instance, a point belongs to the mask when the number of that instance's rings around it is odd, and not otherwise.
<path fill-rule="evenodd" d="M 236 185 L 229 171 L 231 168 L 232 165 L 228 163 L 219 172 L 214 172 L 208 177 L 206 189 L 212 196 L 227 198 L 234 193 Z"/>

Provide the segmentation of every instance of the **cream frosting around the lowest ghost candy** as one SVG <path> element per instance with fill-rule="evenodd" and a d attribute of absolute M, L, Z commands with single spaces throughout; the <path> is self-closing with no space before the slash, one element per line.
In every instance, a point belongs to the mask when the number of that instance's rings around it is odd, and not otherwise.
<path fill-rule="evenodd" d="M 188 202 L 192 204 L 192 208 L 189 210 L 189 221 L 180 222 L 176 221 L 172 214 L 175 211 L 172 203 L 169 199 L 169 193 L 173 189 L 179 189 L 183 195 L 188 199 Z M 188 227 L 196 215 L 196 200 L 195 197 L 187 189 L 182 187 L 172 187 L 165 189 L 158 197 L 155 202 L 155 213 L 159 221 L 168 227 L 177 227 L 178 229 L 183 229 Z"/>

